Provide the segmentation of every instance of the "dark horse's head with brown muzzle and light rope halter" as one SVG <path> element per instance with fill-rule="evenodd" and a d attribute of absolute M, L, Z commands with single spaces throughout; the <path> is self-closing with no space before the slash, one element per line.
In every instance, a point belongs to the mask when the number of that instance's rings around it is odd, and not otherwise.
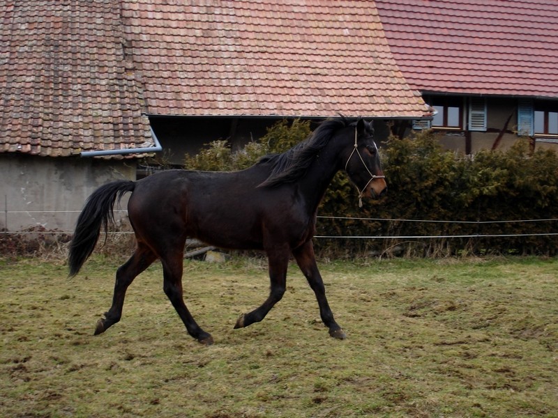
<path fill-rule="evenodd" d="M 372 123 L 359 118 L 350 126 L 353 128 L 351 145 L 347 145 L 343 153 L 347 159 L 345 171 L 359 189 L 359 198 L 379 197 L 386 192 L 387 185 L 379 163 Z"/>

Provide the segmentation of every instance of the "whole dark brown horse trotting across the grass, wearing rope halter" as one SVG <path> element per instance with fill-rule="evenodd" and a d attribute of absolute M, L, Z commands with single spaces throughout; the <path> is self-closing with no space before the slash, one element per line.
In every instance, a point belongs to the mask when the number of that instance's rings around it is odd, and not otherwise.
<path fill-rule="evenodd" d="M 120 320 L 126 289 L 160 259 L 163 289 L 186 330 L 200 343 L 213 343 L 182 297 L 184 244 L 187 237 L 193 237 L 227 249 L 261 249 L 268 257 L 269 297 L 262 306 L 243 314 L 235 328 L 259 322 L 281 299 L 292 254 L 315 292 L 329 334 L 344 339 L 345 332 L 333 319 L 326 299 L 312 236 L 318 204 L 340 169 L 345 169 L 359 189 L 359 198 L 379 196 L 386 189 L 372 134 L 372 125 L 360 118 L 353 122 L 328 119 L 306 141 L 242 171 L 170 170 L 137 182 L 119 180 L 99 187 L 77 219 L 70 244 L 70 276 L 91 255 L 101 226 L 106 230 L 114 222 L 114 203 L 126 192 L 132 192 L 128 216 L 137 248 L 116 271 L 112 306 L 98 320 L 95 334 Z"/>

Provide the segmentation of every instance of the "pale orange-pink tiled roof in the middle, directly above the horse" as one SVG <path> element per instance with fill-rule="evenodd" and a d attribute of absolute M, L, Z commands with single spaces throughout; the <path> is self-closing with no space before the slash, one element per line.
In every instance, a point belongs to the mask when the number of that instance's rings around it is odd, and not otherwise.
<path fill-rule="evenodd" d="M 373 1 L 123 1 L 149 114 L 422 116 Z"/>

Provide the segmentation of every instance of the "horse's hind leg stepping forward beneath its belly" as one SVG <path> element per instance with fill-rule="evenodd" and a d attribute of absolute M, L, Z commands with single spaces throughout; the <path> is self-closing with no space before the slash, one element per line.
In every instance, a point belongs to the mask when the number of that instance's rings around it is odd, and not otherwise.
<path fill-rule="evenodd" d="M 193 336 L 200 343 L 210 346 L 213 344 L 213 337 L 197 325 L 184 303 L 182 290 L 182 252 L 176 251 L 176 254 L 173 256 L 162 258 L 161 263 L 163 263 L 163 291 L 165 291 L 165 295 L 167 295 L 172 306 L 176 309 L 176 313 L 179 314 L 182 322 L 186 325 L 188 334 Z"/>

